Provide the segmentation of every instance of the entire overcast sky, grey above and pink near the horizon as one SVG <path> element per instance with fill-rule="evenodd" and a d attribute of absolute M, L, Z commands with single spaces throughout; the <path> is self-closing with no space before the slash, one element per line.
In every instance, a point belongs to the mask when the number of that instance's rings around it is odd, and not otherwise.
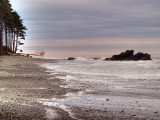
<path fill-rule="evenodd" d="M 160 57 L 160 0 L 10 0 L 27 26 L 24 52 L 111 57 L 127 49 Z"/>

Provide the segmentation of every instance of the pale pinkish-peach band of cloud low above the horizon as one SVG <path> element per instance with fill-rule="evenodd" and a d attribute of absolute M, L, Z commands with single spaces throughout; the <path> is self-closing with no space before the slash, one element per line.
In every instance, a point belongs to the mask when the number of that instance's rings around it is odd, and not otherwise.
<path fill-rule="evenodd" d="M 159 39 L 76 39 L 76 40 L 39 40 L 25 44 L 30 50 L 46 51 L 79 51 L 108 52 L 126 49 L 143 50 L 159 49 Z M 84 42 L 85 41 L 85 42 Z M 147 50 L 148 49 L 148 50 Z M 160 49 L 159 49 L 160 50 Z"/>

